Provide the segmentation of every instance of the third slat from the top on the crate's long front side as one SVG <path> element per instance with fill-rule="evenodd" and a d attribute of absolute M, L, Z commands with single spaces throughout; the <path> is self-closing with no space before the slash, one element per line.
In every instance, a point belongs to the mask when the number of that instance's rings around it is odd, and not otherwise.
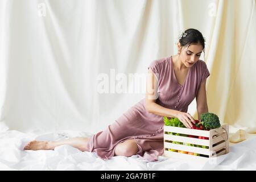
<path fill-rule="evenodd" d="M 184 144 L 175 144 L 175 143 L 164 142 L 164 148 L 171 148 L 171 149 L 175 149 L 175 150 L 193 152 L 196 154 L 210 155 L 210 151 L 207 148 L 185 146 Z"/>

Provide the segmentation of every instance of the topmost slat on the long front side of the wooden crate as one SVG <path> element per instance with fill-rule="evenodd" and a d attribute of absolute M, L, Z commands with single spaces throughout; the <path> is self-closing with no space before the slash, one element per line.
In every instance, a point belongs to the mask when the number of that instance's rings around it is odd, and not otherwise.
<path fill-rule="evenodd" d="M 164 126 L 164 131 L 168 131 L 168 132 L 172 132 L 172 133 L 187 134 L 187 135 L 196 135 L 196 136 L 201 136 L 201 137 L 209 137 L 210 136 L 209 131 L 187 129 L 184 127 Z"/>

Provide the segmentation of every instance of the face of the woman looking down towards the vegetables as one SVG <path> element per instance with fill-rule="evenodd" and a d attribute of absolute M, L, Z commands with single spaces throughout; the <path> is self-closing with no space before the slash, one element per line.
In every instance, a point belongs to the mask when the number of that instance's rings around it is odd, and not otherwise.
<path fill-rule="evenodd" d="M 187 68 L 191 68 L 199 60 L 202 52 L 203 46 L 201 44 L 190 44 L 182 47 L 180 59 Z"/>

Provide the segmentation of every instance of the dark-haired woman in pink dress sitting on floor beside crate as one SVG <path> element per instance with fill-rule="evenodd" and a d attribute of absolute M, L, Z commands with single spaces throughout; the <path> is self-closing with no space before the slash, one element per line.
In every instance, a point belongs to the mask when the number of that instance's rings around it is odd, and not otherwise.
<path fill-rule="evenodd" d="M 163 154 L 163 116 L 176 117 L 188 128 L 195 123 L 187 113 L 196 97 L 197 113 L 208 112 L 205 83 L 210 75 L 199 60 L 205 40 L 201 32 L 188 29 L 177 43 L 178 54 L 152 61 L 148 67 L 146 98 L 122 114 L 105 131 L 90 138 L 76 137 L 61 141 L 32 141 L 24 150 L 54 150 L 68 144 L 81 151 L 95 151 L 102 159 L 112 156 L 139 155 L 149 161 Z M 150 68 L 150 69 L 149 69 Z"/>

